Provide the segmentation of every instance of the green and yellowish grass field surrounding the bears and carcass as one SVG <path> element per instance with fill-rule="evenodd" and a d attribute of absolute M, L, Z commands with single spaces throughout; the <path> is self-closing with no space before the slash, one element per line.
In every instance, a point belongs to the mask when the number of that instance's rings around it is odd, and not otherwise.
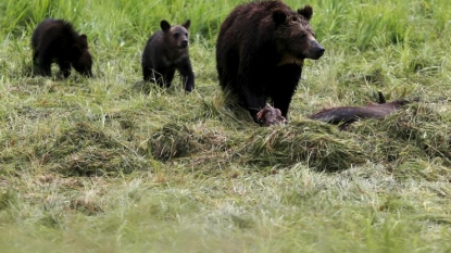
<path fill-rule="evenodd" d="M 285 1 L 313 7 L 326 53 L 267 128 L 217 81 L 240 2 L 0 2 L 1 252 L 451 252 L 449 0 Z M 47 16 L 88 35 L 93 78 L 32 76 Z M 162 18 L 191 18 L 190 94 L 141 90 Z M 305 117 L 377 91 L 419 101 L 347 131 Z"/>

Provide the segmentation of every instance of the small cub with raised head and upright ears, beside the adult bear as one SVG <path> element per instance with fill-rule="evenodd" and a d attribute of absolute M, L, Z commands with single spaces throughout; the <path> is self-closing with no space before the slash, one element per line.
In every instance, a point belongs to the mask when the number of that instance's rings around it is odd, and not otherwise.
<path fill-rule="evenodd" d="M 188 54 L 188 29 L 190 20 L 183 25 L 161 21 L 161 30 L 154 33 L 146 43 L 141 66 L 143 80 L 170 87 L 177 69 L 185 90 L 195 89 L 195 74 Z"/>

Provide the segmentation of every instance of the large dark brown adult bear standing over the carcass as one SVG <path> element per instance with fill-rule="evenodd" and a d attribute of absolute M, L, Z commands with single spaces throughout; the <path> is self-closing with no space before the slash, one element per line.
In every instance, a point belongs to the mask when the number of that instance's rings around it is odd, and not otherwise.
<path fill-rule="evenodd" d="M 324 54 L 309 24 L 312 15 L 310 5 L 292 11 L 281 1 L 254 1 L 235 8 L 222 24 L 216 43 L 220 85 L 255 122 L 267 99 L 287 117 L 304 59 Z"/>

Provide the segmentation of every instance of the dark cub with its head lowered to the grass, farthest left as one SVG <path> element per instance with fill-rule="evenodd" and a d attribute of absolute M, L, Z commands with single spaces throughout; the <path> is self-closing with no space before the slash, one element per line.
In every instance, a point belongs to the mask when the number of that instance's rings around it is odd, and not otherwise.
<path fill-rule="evenodd" d="M 33 63 L 42 76 L 51 75 L 51 63 L 57 62 L 64 77 L 71 75 L 71 66 L 85 76 L 92 76 L 92 58 L 88 38 L 78 35 L 71 23 L 47 18 L 32 37 Z"/>

